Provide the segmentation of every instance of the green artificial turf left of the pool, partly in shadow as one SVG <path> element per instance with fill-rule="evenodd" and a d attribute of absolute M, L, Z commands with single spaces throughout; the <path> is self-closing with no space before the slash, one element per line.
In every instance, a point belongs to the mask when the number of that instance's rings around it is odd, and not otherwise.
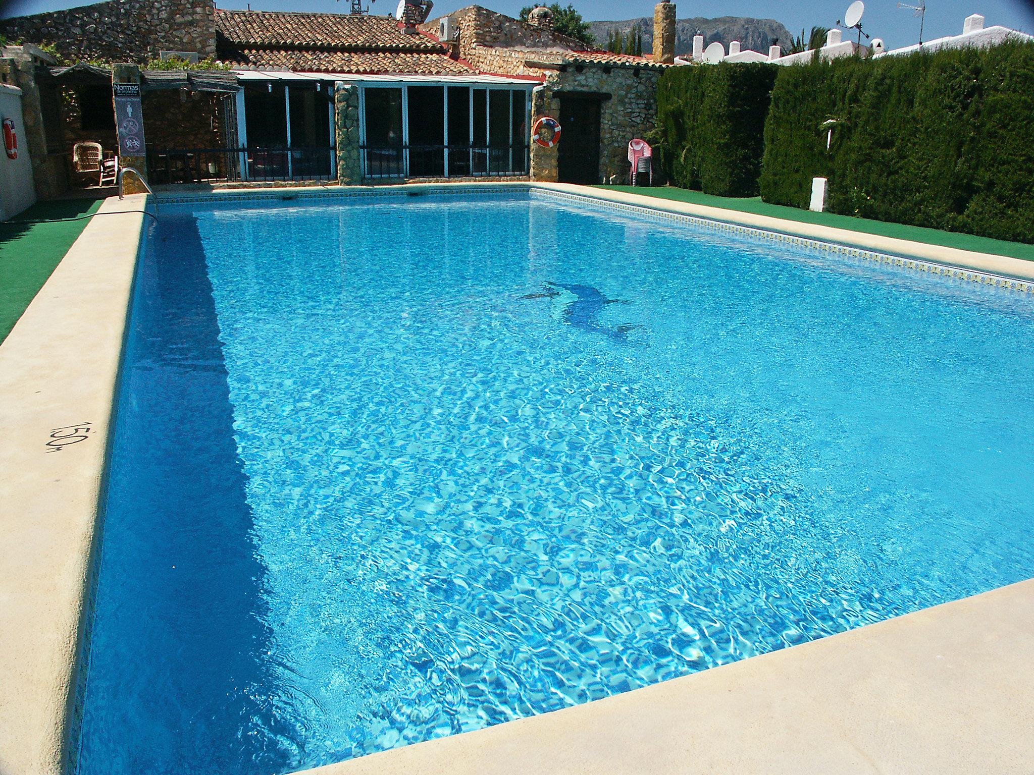
<path fill-rule="evenodd" d="M 95 213 L 101 202 L 39 202 L 9 221 L 0 221 L 0 342 L 90 222 L 67 219 Z"/>

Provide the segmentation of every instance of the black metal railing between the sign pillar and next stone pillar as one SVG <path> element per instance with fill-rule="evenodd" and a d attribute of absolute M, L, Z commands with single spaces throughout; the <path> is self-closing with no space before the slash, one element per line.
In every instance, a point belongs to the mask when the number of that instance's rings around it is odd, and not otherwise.
<path fill-rule="evenodd" d="M 234 181 L 331 180 L 335 150 L 303 148 L 190 148 L 147 152 L 147 173 L 157 185 Z"/>

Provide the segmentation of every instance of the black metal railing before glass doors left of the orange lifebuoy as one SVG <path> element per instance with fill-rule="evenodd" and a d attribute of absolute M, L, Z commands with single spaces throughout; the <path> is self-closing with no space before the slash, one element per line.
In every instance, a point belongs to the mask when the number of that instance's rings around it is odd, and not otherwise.
<path fill-rule="evenodd" d="M 366 178 L 516 176 L 528 168 L 526 145 L 365 145 L 360 151 Z"/>

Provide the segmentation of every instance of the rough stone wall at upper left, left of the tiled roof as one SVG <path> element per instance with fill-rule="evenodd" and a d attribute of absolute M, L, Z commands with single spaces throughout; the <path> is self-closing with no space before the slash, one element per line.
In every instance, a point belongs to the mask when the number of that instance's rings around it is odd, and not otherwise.
<path fill-rule="evenodd" d="M 53 43 L 65 60 L 145 63 L 161 51 L 215 56 L 213 0 L 110 0 L 0 20 L 9 40 Z"/>

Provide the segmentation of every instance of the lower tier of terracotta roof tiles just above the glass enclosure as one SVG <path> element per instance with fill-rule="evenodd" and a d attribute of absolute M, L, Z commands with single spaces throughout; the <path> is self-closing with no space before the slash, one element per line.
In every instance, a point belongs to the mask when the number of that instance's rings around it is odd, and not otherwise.
<path fill-rule="evenodd" d="M 472 69 L 445 54 L 408 52 L 293 51 L 243 49 L 223 61 L 243 69 L 254 67 L 301 72 L 355 72 L 385 75 L 469 75 Z"/>

